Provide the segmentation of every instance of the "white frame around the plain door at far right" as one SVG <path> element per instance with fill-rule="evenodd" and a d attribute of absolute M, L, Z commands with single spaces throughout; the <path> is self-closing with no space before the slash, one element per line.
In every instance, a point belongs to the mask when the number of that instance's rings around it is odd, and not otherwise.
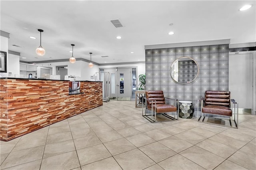
<path fill-rule="evenodd" d="M 252 115 L 256 115 L 256 51 L 229 52 L 229 55 L 252 55 Z M 238 101 L 239 105 L 239 101 Z"/>

